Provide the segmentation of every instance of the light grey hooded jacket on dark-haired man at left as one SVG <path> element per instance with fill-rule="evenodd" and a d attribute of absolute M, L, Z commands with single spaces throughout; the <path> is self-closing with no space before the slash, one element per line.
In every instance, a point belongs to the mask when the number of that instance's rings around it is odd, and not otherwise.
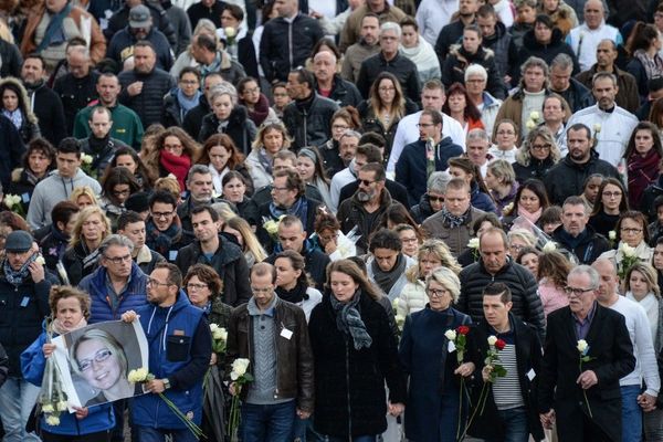
<path fill-rule="evenodd" d="M 78 168 L 73 178 L 63 178 L 57 170 L 53 170 L 48 178 L 41 180 L 32 192 L 27 221 L 32 229 L 42 228 L 51 223 L 51 210 L 60 201 L 67 200 L 75 188 L 88 186 L 95 194 L 102 192 L 98 181 L 90 178 Z"/>

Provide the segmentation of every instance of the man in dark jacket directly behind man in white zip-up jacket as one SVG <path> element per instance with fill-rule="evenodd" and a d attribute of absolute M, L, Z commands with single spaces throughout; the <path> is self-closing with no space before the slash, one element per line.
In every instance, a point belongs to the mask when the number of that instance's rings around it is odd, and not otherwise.
<path fill-rule="evenodd" d="M 576 75 L 576 80 L 591 88 L 591 80 L 598 72 L 608 72 L 617 76 L 617 96 L 614 102 L 618 106 L 627 109 L 630 113 L 635 113 L 640 106 L 640 95 L 638 93 L 638 82 L 635 77 L 625 71 L 620 70 L 615 64 L 618 56 L 617 44 L 613 40 L 603 39 L 597 46 L 597 62 Z M 649 114 L 648 114 L 649 116 Z"/>

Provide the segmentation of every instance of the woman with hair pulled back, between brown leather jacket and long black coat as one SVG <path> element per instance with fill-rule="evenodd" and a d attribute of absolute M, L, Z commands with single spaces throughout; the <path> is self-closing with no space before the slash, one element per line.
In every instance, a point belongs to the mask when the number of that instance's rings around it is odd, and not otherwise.
<path fill-rule="evenodd" d="M 278 298 L 299 306 L 311 318 L 313 308 L 323 301 L 323 294 L 314 288 L 315 282 L 306 274 L 306 261 L 294 250 L 284 250 L 276 255 L 276 294 Z"/>

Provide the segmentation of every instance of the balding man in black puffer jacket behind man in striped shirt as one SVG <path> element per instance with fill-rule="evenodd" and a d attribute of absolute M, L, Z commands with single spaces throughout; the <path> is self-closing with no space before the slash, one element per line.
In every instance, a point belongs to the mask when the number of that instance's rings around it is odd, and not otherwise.
<path fill-rule="evenodd" d="M 483 293 L 491 283 L 504 283 L 512 292 L 512 313 L 534 327 L 544 339 L 544 306 L 532 273 L 507 255 L 506 233 L 497 228 L 486 230 L 480 239 L 481 260 L 461 271 L 461 296 L 457 308 L 477 322 L 483 318 Z"/>

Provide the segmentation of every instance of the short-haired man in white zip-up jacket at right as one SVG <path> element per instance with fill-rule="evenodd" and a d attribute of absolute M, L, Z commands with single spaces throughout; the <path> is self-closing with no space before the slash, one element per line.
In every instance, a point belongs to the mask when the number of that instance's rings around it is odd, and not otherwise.
<path fill-rule="evenodd" d="M 567 123 L 567 127 L 581 123 L 593 128 L 594 150 L 599 158 L 614 167 L 621 161 L 631 133 L 638 125 L 638 118 L 633 114 L 614 103 L 617 92 L 617 77 L 613 74 L 607 72 L 596 74 L 592 94 L 597 104 L 578 110 Z"/>

